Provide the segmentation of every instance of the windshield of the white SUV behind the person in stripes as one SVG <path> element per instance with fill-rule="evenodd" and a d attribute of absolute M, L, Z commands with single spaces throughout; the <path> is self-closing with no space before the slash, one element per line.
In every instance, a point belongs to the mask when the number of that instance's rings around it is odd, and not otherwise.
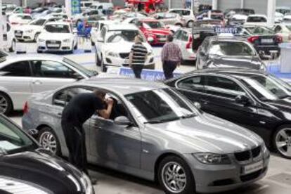
<path fill-rule="evenodd" d="M 134 42 L 134 37 L 136 35 L 140 35 L 143 37 L 143 34 L 141 34 L 138 30 L 116 30 L 116 31 L 110 31 L 108 32 L 108 43 L 116 43 L 120 41 L 129 41 Z M 143 39 L 143 42 L 145 42 L 145 39 Z"/>

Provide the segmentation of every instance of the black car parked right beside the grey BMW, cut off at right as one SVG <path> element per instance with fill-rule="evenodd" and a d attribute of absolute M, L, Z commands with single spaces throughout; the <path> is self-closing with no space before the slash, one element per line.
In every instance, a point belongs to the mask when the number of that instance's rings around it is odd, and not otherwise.
<path fill-rule="evenodd" d="M 291 86 L 255 70 L 201 70 L 166 81 L 201 109 L 259 134 L 291 159 Z"/>

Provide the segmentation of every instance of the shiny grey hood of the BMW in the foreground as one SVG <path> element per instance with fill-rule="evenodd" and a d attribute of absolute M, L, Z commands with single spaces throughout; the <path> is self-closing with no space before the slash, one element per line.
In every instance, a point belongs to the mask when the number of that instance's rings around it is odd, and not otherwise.
<path fill-rule="evenodd" d="M 172 139 L 183 153 L 235 153 L 263 143 L 252 131 L 207 113 L 150 126 L 162 131 L 164 139 Z"/>

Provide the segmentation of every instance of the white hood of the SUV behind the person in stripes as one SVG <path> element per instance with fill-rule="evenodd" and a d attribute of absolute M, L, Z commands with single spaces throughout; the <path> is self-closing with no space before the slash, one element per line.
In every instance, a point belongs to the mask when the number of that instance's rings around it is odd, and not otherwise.
<path fill-rule="evenodd" d="M 122 45 L 122 47 L 120 47 L 120 45 Z M 134 43 L 129 41 L 122 41 L 118 43 L 106 43 L 104 45 L 104 51 L 105 52 L 111 51 L 114 53 L 129 53 L 133 45 Z M 148 43 L 143 43 L 143 46 L 145 46 L 148 49 L 148 51 L 153 50 Z"/>

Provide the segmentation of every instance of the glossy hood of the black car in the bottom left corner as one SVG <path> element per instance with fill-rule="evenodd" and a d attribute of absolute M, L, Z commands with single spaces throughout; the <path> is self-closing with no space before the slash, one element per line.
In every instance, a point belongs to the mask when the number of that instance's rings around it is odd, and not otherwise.
<path fill-rule="evenodd" d="M 1 156 L 1 177 L 49 191 L 47 193 L 77 193 L 78 188 L 84 191 L 80 182 L 82 173 L 43 149 Z"/>

